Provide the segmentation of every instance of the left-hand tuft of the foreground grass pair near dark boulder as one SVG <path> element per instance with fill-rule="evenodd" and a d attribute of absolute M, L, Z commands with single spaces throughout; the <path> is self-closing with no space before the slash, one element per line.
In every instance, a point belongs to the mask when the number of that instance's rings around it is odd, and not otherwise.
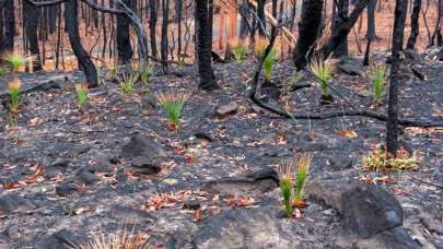
<path fill-rule="evenodd" d="M 283 163 L 280 166 L 280 191 L 283 198 L 283 210 L 287 217 L 292 216 L 292 186 L 293 186 L 292 165 Z"/>

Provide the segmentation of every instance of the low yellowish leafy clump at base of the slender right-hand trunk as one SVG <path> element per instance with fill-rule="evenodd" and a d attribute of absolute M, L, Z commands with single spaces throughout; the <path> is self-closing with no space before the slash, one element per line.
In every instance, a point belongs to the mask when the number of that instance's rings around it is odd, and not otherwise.
<path fill-rule="evenodd" d="M 390 156 L 385 150 L 375 150 L 363 157 L 363 167 L 374 171 L 404 171 L 416 170 L 419 167 L 419 161 L 410 156 L 405 150 L 399 150 L 397 156 Z"/>

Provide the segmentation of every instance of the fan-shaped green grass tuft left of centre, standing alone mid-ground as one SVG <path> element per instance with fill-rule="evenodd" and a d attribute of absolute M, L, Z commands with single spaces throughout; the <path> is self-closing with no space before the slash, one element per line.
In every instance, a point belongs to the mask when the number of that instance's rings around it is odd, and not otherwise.
<path fill-rule="evenodd" d="M 160 105 L 163 108 L 163 111 L 166 114 L 170 121 L 170 126 L 173 130 L 177 130 L 182 110 L 185 106 L 188 95 L 179 92 L 170 92 L 170 93 L 158 93 L 156 98 L 159 99 Z"/>

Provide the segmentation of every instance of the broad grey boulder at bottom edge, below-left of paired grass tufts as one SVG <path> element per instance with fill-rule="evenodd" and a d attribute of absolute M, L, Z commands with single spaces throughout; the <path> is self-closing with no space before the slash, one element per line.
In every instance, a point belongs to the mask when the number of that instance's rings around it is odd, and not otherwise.
<path fill-rule="evenodd" d="M 276 217 L 264 210 L 230 210 L 206 221 L 193 240 L 197 249 L 296 249 Z"/>

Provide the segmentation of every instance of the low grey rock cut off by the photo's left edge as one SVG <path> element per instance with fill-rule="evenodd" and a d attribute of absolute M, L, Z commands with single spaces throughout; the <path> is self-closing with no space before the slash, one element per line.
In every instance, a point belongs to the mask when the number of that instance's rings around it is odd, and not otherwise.
<path fill-rule="evenodd" d="M 18 193 L 0 195 L 0 214 L 25 213 L 36 209 L 36 205 Z"/>

